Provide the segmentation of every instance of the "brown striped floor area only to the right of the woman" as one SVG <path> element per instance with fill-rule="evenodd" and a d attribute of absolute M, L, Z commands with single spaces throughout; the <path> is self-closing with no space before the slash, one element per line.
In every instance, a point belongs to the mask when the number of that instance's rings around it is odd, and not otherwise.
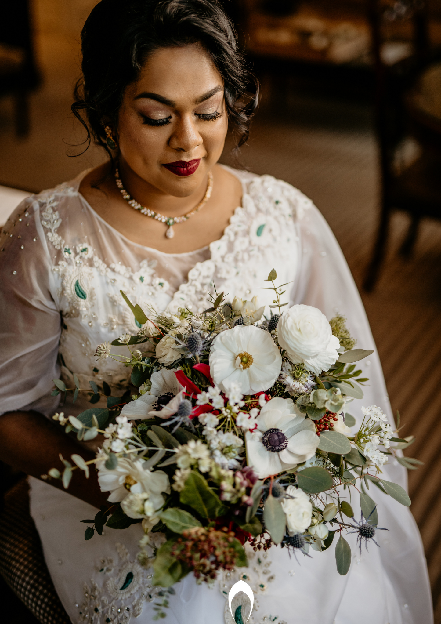
<path fill-rule="evenodd" d="M 278 118 L 274 115 L 278 114 Z M 441 225 L 422 224 L 414 255 L 397 254 L 408 225 L 396 213 L 388 255 L 373 293 L 362 290 L 377 223 L 377 152 L 369 109 L 293 98 L 259 112 L 243 162 L 283 178 L 311 197 L 331 225 L 361 291 L 405 451 L 424 462 L 409 471 L 412 513 L 424 542 L 441 622 Z"/>

